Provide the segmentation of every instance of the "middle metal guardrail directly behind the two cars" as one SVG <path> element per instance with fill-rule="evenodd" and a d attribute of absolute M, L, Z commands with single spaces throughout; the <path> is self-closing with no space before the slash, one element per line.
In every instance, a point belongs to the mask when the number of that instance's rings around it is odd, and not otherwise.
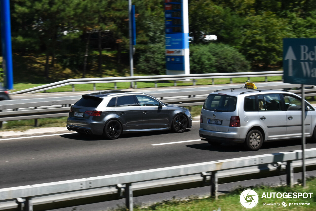
<path fill-rule="evenodd" d="M 238 88 L 242 84 L 229 85 L 230 88 Z M 282 84 L 264 86 L 264 89 L 291 89 L 298 88 L 297 84 Z M 258 84 L 260 88 L 260 84 Z M 306 85 L 308 87 L 308 85 Z M 160 99 L 164 103 L 172 103 L 181 106 L 203 105 L 208 94 L 219 87 L 195 87 L 185 89 L 151 90 L 144 93 Z M 261 87 L 263 88 L 263 87 Z M 289 90 L 299 94 L 301 90 Z M 315 96 L 316 89 L 305 89 L 305 96 Z M 0 105 L 0 122 L 24 119 L 39 119 L 68 116 L 70 105 L 76 103 L 81 96 L 20 99 L 2 101 Z M 28 109 L 28 110 L 25 110 Z M 1 127 L 1 124 L 0 124 Z"/>

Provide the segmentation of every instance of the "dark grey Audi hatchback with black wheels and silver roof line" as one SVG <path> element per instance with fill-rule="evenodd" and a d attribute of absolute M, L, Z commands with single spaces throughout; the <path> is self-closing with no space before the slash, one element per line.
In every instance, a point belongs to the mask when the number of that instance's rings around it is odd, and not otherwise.
<path fill-rule="evenodd" d="M 80 134 L 116 139 L 122 133 L 143 131 L 184 132 L 192 115 L 184 107 L 167 104 L 132 91 L 112 90 L 82 95 L 71 106 L 67 129 Z"/>

